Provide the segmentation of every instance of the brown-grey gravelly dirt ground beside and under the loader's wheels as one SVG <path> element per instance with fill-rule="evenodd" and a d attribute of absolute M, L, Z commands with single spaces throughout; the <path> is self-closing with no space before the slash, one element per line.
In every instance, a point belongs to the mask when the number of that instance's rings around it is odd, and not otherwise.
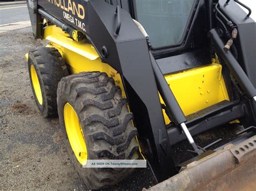
<path fill-rule="evenodd" d="M 0 34 L 0 190 L 86 189 L 66 153 L 58 118 L 43 118 L 29 82 L 25 53 L 38 46 L 31 27 Z M 137 169 L 112 187 L 154 185 L 149 169 Z"/>

